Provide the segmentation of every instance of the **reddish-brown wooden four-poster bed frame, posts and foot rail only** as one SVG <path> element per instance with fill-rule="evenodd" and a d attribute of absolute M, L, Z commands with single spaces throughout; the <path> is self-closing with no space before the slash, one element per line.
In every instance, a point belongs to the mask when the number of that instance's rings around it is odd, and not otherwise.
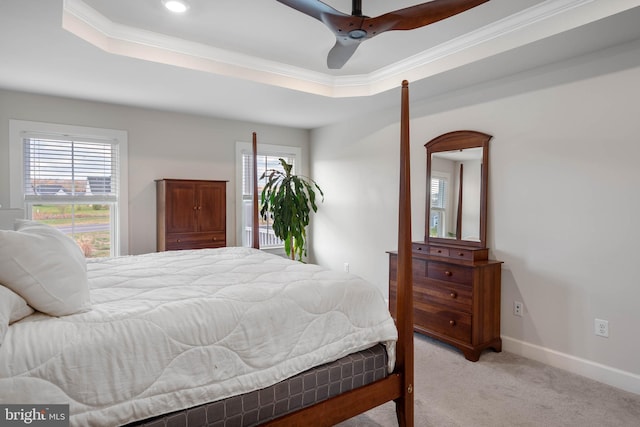
<path fill-rule="evenodd" d="M 258 227 L 257 135 L 253 133 L 252 247 L 260 248 Z M 398 290 L 395 370 L 388 377 L 313 406 L 267 422 L 267 426 L 332 426 L 385 402 L 395 401 L 400 427 L 413 426 L 413 292 L 411 258 L 411 191 L 409 146 L 409 83 L 402 82 L 400 115 L 400 194 L 398 218 Z"/>

